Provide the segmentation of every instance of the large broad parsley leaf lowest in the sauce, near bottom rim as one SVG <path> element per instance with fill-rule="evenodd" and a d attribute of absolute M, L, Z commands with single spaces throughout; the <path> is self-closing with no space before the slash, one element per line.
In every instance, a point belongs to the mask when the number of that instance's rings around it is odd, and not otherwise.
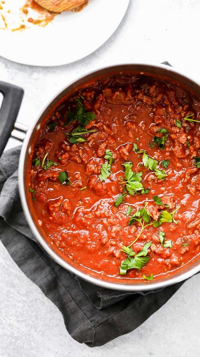
<path fill-rule="evenodd" d="M 123 260 L 121 263 L 119 268 L 120 275 L 125 275 L 129 269 L 141 270 L 141 268 L 149 261 L 149 256 L 147 254 L 151 244 L 152 242 L 145 243 L 142 250 L 137 254 L 135 254 L 135 252 L 129 247 L 122 247 L 121 251 L 127 253 L 128 258 Z"/>

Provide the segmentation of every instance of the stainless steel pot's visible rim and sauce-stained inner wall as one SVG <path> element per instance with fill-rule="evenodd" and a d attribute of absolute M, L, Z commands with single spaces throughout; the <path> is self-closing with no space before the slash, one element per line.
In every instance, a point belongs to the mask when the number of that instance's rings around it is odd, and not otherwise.
<path fill-rule="evenodd" d="M 37 238 L 37 241 L 46 251 L 46 253 L 60 264 L 63 268 L 69 270 L 71 273 L 79 276 L 80 278 L 87 280 L 90 283 L 116 290 L 123 291 L 147 291 L 160 289 L 162 287 L 183 281 L 195 273 L 200 271 L 200 256 L 196 257 L 193 261 L 190 261 L 184 267 L 174 270 L 173 274 L 161 275 L 153 281 L 142 281 L 137 279 L 123 278 L 111 278 L 107 276 L 99 275 L 87 268 L 81 267 L 77 263 L 73 262 L 68 257 L 63 257 L 60 251 L 51 245 L 45 238 L 45 234 L 42 227 L 39 226 L 36 217 L 31 211 L 32 202 L 28 199 L 27 190 L 27 167 L 29 163 L 29 153 L 31 151 L 31 145 L 35 140 L 35 137 L 40 134 L 40 124 L 43 120 L 48 118 L 48 114 L 55 110 L 57 103 L 60 103 L 63 97 L 73 92 L 77 87 L 84 86 L 86 81 L 96 79 L 97 77 L 108 76 L 113 74 L 119 74 L 123 72 L 125 74 L 147 74 L 153 77 L 164 77 L 169 82 L 176 83 L 186 88 L 191 94 L 200 97 L 200 84 L 190 79 L 189 77 L 181 74 L 175 69 L 166 65 L 148 65 L 148 64 L 121 64 L 115 66 L 104 67 L 96 71 L 89 72 L 88 74 L 81 76 L 76 81 L 67 85 L 64 89 L 59 91 L 53 99 L 46 105 L 45 109 L 37 118 L 35 124 L 28 130 L 24 144 L 22 146 L 20 163 L 19 163 L 19 191 L 22 207 L 27 222 L 31 228 L 31 231 Z M 45 119 L 46 118 L 46 119 Z"/>

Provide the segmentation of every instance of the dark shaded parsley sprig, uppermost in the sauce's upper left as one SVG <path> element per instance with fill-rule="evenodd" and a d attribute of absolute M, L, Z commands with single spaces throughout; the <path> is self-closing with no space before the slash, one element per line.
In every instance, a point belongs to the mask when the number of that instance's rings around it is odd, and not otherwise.
<path fill-rule="evenodd" d="M 73 112 L 70 110 L 68 112 L 68 119 L 71 121 L 78 121 L 81 125 L 86 126 L 91 120 L 94 120 L 96 115 L 92 112 L 86 112 L 83 104 L 81 103 L 80 99 L 75 98 L 76 103 L 76 111 Z"/>

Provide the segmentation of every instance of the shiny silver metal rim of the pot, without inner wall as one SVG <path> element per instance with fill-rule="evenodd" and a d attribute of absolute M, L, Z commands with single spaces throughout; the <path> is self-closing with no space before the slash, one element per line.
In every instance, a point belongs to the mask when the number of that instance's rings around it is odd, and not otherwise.
<path fill-rule="evenodd" d="M 184 281 L 188 278 L 190 278 L 191 276 L 195 275 L 196 273 L 198 273 L 200 271 L 200 264 L 195 266 L 194 268 L 190 269 L 187 272 L 181 273 L 178 276 L 175 277 L 171 277 L 168 280 L 163 280 L 160 282 L 154 282 L 151 281 L 150 283 L 146 282 L 144 284 L 134 284 L 134 280 L 133 283 L 126 283 L 123 281 L 123 283 L 118 283 L 117 279 L 116 282 L 107 282 L 105 280 L 101 280 L 100 278 L 94 278 L 91 275 L 83 273 L 82 271 L 72 267 L 70 264 L 68 264 L 65 260 L 63 260 L 61 257 L 59 257 L 53 250 L 51 250 L 50 246 L 45 242 L 45 240 L 42 238 L 40 232 L 37 230 L 34 221 L 32 220 L 31 214 L 29 212 L 29 208 L 26 202 L 26 196 L 25 196 L 25 186 L 24 186 L 24 162 L 25 162 L 25 157 L 27 155 L 27 150 L 29 149 L 27 147 L 27 145 L 29 144 L 29 140 L 32 134 L 32 131 L 36 125 L 36 123 L 38 123 L 40 121 L 40 118 L 44 112 L 44 110 L 51 105 L 52 101 L 55 100 L 57 98 L 57 96 L 62 93 L 64 90 L 67 90 L 68 87 L 70 87 L 73 83 L 75 83 L 78 80 L 83 79 L 84 77 L 91 75 L 91 74 L 95 74 L 95 72 L 97 71 L 103 71 L 106 69 L 111 69 L 114 71 L 115 68 L 117 67 L 128 67 L 128 66 L 150 66 L 150 67 L 154 67 L 154 68 L 160 68 L 160 69 L 165 69 L 169 72 L 174 72 L 176 74 L 179 74 L 181 76 L 184 76 L 186 79 L 189 79 L 191 81 L 194 81 L 196 84 L 200 85 L 199 82 L 197 82 L 196 80 L 194 80 L 193 78 L 186 76 L 185 74 L 181 73 L 180 71 L 176 70 L 173 67 L 168 67 L 164 64 L 149 64 L 149 63 L 139 63 L 139 62 L 134 62 L 134 63 L 123 63 L 123 64 L 115 64 L 115 65 L 109 65 L 109 66 L 104 66 L 104 67 L 100 67 L 97 69 L 93 69 L 92 71 L 89 71 L 87 73 L 84 73 L 83 75 L 81 75 L 80 77 L 76 78 L 75 80 L 73 80 L 72 82 L 70 82 L 68 85 L 65 85 L 61 90 L 59 90 L 54 96 L 53 98 L 51 98 L 51 100 L 47 103 L 47 105 L 45 105 L 45 107 L 43 108 L 43 110 L 40 112 L 39 116 L 37 117 L 37 120 L 35 121 L 35 123 L 29 128 L 29 130 L 27 131 L 24 143 L 22 145 L 22 149 L 21 149 L 21 154 L 20 154 L 20 160 L 19 160 L 19 193 L 20 193 L 20 199 L 21 199 L 21 204 L 22 204 L 22 208 L 26 217 L 26 220 L 29 224 L 29 227 L 31 228 L 32 233 L 34 234 L 34 236 L 36 237 L 37 241 L 40 243 L 40 245 L 42 246 L 42 248 L 46 251 L 46 253 L 59 265 L 61 265 L 63 268 L 67 269 L 68 271 L 70 271 L 72 274 L 80 277 L 83 280 L 88 281 L 89 283 L 92 283 L 94 285 L 98 285 L 104 288 L 108 288 L 108 289 L 113 289 L 113 290 L 121 290 L 121 291 L 132 291 L 132 292 L 139 292 L 139 291 L 150 291 L 150 290 L 157 290 L 169 285 L 173 285 L 175 283 Z M 89 271 L 89 270 L 88 270 Z M 105 278 L 105 277 L 104 277 Z"/>

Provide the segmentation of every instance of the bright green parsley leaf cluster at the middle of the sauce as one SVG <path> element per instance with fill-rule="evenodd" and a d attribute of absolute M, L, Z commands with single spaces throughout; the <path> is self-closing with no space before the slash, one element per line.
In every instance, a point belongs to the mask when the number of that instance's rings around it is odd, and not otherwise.
<path fill-rule="evenodd" d="M 122 164 L 125 167 L 125 181 L 122 182 L 122 184 L 125 184 L 126 190 L 129 193 L 129 195 L 134 195 L 138 191 L 143 191 L 144 187 L 140 181 L 142 180 L 142 172 L 133 172 L 131 170 L 133 164 L 132 162 L 125 162 L 125 164 Z"/>

